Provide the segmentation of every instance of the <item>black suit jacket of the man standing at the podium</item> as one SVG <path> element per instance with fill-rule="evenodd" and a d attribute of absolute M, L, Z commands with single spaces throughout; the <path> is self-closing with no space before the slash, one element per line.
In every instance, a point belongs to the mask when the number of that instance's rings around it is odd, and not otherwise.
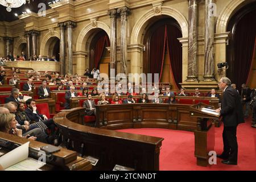
<path fill-rule="evenodd" d="M 237 126 L 239 123 L 245 122 L 243 119 L 241 97 L 237 90 L 231 86 L 228 86 L 223 93 L 220 113 L 226 127 Z"/>

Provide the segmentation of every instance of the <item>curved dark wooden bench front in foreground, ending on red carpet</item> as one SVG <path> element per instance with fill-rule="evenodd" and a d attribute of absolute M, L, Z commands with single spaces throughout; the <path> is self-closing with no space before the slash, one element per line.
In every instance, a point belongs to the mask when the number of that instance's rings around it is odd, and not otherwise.
<path fill-rule="evenodd" d="M 113 170 L 116 164 L 135 170 L 159 170 L 163 138 L 122 133 L 81 125 L 85 109 L 63 110 L 53 118 L 68 148 L 99 161 L 94 170 Z"/>

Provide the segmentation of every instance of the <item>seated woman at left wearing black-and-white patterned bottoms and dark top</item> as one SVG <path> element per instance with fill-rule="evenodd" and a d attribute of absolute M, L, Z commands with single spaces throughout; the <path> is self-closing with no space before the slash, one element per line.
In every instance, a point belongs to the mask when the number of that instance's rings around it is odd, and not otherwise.
<path fill-rule="evenodd" d="M 43 131 L 47 130 L 47 126 L 43 122 L 31 121 L 30 118 L 28 118 L 27 114 L 25 113 L 25 106 L 23 103 L 18 105 L 15 115 L 16 121 L 18 121 L 20 125 L 27 125 L 29 127 L 35 126 Z"/>

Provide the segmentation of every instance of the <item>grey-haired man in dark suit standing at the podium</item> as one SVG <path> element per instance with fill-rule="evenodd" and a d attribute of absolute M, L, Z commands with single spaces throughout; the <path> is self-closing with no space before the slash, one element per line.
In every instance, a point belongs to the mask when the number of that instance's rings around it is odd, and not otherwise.
<path fill-rule="evenodd" d="M 227 77 L 222 77 L 218 86 L 223 90 L 221 108 L 216 112 L 223 118 L 224 130 L 222 133 L 224 150 L 218 158 L 224 159 L 222 163 L 237 165 L 238 145 L 237 145 L 237 125 L 243 123 L 243 110 L 241 98 L 238 92 L 232 88 L 231 81 Z"/>

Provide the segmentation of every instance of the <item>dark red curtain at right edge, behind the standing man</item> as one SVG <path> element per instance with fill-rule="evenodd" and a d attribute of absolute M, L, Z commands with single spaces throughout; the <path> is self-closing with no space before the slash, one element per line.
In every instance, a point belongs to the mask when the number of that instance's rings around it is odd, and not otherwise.
<path fill-rule="evenodd" d="M 234 59 L 229 63 L 228 77 L 237 88 L 245 84 L 249 76 L 256 36 L 256 11 L 246 14 L 237 23 L 234 33 Z"/>

